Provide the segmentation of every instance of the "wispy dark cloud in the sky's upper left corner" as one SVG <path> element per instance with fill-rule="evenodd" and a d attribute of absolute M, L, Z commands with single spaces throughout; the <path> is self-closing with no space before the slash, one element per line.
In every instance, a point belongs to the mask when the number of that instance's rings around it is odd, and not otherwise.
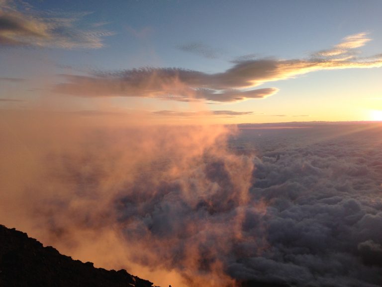
<path fill-rule="evenodd" d="M 97 25 L 80 25 L 86 13 L 38 13 L 32 7 L 4 1 L 0 6 L 0 45 L 59 48 L 100 48 L 102 38 L 113 32 Z"/>

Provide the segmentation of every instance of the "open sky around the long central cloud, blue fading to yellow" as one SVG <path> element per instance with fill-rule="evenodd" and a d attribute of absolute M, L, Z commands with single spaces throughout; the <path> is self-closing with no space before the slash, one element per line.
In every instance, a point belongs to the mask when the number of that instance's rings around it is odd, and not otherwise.
<path fill-rule="evenodd" d="M 3 109 L 36 107 L 41 106 L 41 98 L 44 101 L 59 98 L 59 106 L 70 103 L 68 106 L 71 109 L 94 110 L 99 109 L 97 102 L 100 98 L 108 98 L 109 109 L 116 106 L 122 110 L 143 109 L 149 112 L 199 109 L 256 114 L 222 119 L 223 122 L 370 120 L 368 111 L 382 109 L 382 101 L 378 99 L 382 98 L 379 83 L 381 65 L 380 62 L 370 64 L 370 61 L 381 61 L 380 56 L 365 58 L 382 53 L 381 1 L 26 3 L 28 5 L 0 1 L 0 60 L 5 63 L 0 66 L 0 77 L 26 79 L 23 82 L 0 82 L 3 86 L 0 98 L 4 99 L 0 102 L 0 108 Z M 27 23 L 21 23 L 25 25 L 31 24 L 32 20 L 34 25 L 44 24 L 45 34 L 40 35 L 39 39 L 22 34 L 23 31 L 9 36 L 5 21 L 9 19 L 16 22 L 30 19 Z M 39 27 L 41 32 L 43 29 Z M 5 40 L 1 40 L 1 33 Z M 84 33 L 87 33 L 86 39 L 82 36 Z M 333 49 L 352 35 L 362 35 L 361 38 L 367 40 L 355 48 L 347 47 L 346 55 L 353 57 L 350 64 L 347 62 L 331 70 L 318 65 L 306 73 L 292 73 L 282 79 L 257 83 L 256 89 L 278 89 L 277 92 L 268 91 L 268 96 L 256 94 L 248 98 L 245 95 L 244 98 L 240 96 L 240 100 L 211 102 L 205 101 L 205 95 L 199 95 L 196 96 L 198 101 L 207 104 L 195 107 L 184 101 L 184 95 L 180 96 L 183 102 L 174 101 L 171 97 L 163 99 L 164 93 L 182 93 L 183 88 L 169 92 L 162 91 L 161 87 L 161 91 L 156 91 L 161 94 L 159 99 L 158 93 L 137 97 L 130 93 L 125 97 L 121 92 L 117 96 L 113 94 L 113 97 L 104 93 L 96 99 L 89 95 L 84 98 L 83 94 L 74 93 L 73 89 L 69 96 L 54 89 L 57 84 L 68 81 L 60 74 L 87 76 L 94 72 L 112 73 L 141 67 L 175 67 L 219 75 L 234 67 L 239 60 L 247 63 L 261 59 L 273 59 L 277 63 L 283 60 L 303 61 L 311 59 L 318 51 Z M 8 36 L 13 37 L 12 40 L 23 37 L 22 44 L 9 44 Z M 41 37 L 45 37 L 43 42 Z M 321 57 L 320 61 L 339 60 L 330 57 Z M 368 62 L 367 67 L 350 69 L 354 62 L 360 61 Z M 225 77 L 219 81 L 229 80 Z M 75 84 L 78 89 L 79 83 Z M 203 82 L 202 86 L 196 87 L 186 83 L 187 87 L 196 90 L 212 88 L 211 93 L 221 93 L 223 88 L 223 92 L 246 89 L 240 85 L 224 84 L 223 87 L 221 82 L 219 84 L 215 87 L 215 84 Z M 112 90 L 115 92 L 114 88 Z M 212 96 L 208 97 L 211 99 Z M 5 101 L 9 98 L 26 102 Z M 296 117 L 300 115 L 309 117 Z"/>

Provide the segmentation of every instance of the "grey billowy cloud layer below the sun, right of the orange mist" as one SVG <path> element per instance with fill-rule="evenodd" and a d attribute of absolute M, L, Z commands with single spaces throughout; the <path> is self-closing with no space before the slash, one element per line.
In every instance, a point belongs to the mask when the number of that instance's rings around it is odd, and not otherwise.
<path fill-rule="evenodd" d="M 261 150 L 251 195 L 267 203 L 269 248 L 231 261 L 229 273 L 286 286 L 380 286 L 382 127 L 305 127 L 246 131 L 237 142 Z M 258 215 L 246 218 L 251 236 Z"/>

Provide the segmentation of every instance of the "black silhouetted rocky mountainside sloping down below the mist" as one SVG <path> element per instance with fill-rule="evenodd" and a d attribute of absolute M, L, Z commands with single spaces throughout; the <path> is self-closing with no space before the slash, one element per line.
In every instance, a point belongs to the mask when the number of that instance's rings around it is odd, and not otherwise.
<path fill-rule="evenodd" d="M 0 225 L 1 287 L 153 287 L 125 270 L 95 268 Z"/>

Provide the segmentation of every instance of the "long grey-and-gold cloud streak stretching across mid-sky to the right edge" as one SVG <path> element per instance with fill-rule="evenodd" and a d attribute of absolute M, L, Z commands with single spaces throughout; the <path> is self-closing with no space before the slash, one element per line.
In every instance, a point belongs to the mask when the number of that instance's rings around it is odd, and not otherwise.
<path fill-rule="evenodd" d="M 350 36 L 339 44 L 354 49 L 367 42 L 364 33 Z M 254 89 L 268 82 L 293 78 L 319 70 L 382 67 L 378 55 L 368 58 L 344 53 L 309 59 L 249 59 L 236 61 L 223 72 L 207 74 L 181 68 L 139 68 L 93 75 L 63 75 L 66 80 L 55 86 L 57 93 L 82 97 L 127 96 L 175 101 L 238 102 L 274 95 L 277 88 Z"/>

